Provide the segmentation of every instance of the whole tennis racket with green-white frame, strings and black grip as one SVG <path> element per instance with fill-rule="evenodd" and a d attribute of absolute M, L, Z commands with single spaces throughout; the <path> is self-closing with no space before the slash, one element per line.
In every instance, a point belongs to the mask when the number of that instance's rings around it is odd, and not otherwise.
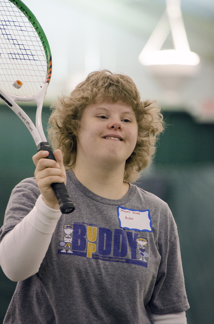
<path fill-rule="evenodd" d="M 52 60 L 43 29 L 20 0 L 0 0 L 0 98 L 19 116 L 30 131 L 37 151 L 55 159 L 43 132 L 41 113 L 50 82 Z M 16 102 L 35 102 L 36 126 Z M 52 183 L 64 214 L 74 211 L 64 183 Z"/>

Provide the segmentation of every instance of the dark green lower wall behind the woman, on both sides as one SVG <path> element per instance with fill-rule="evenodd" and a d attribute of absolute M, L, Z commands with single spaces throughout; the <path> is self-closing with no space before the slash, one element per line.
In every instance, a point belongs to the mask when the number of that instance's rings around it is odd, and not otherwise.
<path fill-rule="evenodd" d="M 32 177 L 36 146 L 22 121 L 0 106 L 0 226 L 11 190 Z M 26 107 L 34 121 L 33 107 Z M 43 109 L 43 125 L 49 110 Z M 158 142 L 153 165 L 142 173 L 138 185 L 169 204 L 180 236 L 190 310 L 188 324 L 212 324 L 214 214 L 214 125 L 197 124 L 184 112 L 164 112 L 167 129 Z M 0 269 L 0 324 L 16 283 Z"/>

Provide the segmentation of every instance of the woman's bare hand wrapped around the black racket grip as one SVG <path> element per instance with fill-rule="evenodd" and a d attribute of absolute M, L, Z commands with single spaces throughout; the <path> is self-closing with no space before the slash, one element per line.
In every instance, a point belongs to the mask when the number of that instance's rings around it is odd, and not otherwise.
<path fill-rule="evenodd" d="M 33 163 L 36 166 L 34 175 L 45 204 L 52 209 L 60 209 L 57 197 L 51 188 L 51 183 L 66 183 L 63 154 L 61 150 L 56 150 L 53 153 L 56 161 L 45 158 L 48 154 L 48 151 L 39 151 L 33 155 Z"/>

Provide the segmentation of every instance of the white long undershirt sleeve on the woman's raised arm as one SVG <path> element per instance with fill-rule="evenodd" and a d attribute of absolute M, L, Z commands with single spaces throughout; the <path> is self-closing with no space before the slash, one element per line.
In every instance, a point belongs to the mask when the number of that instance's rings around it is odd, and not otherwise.
<path fill-rule="evenodd" d="M 12 200 L 16 199 L 12 197 Z M 33 209 L 26 216 L 23 215 L 20 221 L 20 209 L 24 214 L 26 211 L 24 212 L 23 207 L 13 210 L 12 206 L 13 204 L 9 203 L 5 230 L 2 229 L 6 234 L 0 244 L 0 263 L 11 280 L 22 281 L 38 272 L 49 247 L 52 233 L 61 217 L 61 211 L 49 208 L 40 195 Z M 13 214 L 17 212 L 18 220 L 11 215 L 12 210 Z M 14 228 L 8 230 L 16 221 L 18 223 Z"/>

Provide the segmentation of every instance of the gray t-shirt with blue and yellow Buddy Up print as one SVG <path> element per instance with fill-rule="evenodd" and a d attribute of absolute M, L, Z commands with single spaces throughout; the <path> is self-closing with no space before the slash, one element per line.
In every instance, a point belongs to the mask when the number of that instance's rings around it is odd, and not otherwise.
<path fill-rule="evenodd" d="M 100 197 L 72 171 L 67 188 L 76 209 L 58 221 L 39 271 L 18 282 L 4 324 L 149 324 L 151 313 L 187 310 L 168 205 L 133 184 L 121 199 Z M 39 194 L 34 178 L 14 188 L 0 239 Z"/>

